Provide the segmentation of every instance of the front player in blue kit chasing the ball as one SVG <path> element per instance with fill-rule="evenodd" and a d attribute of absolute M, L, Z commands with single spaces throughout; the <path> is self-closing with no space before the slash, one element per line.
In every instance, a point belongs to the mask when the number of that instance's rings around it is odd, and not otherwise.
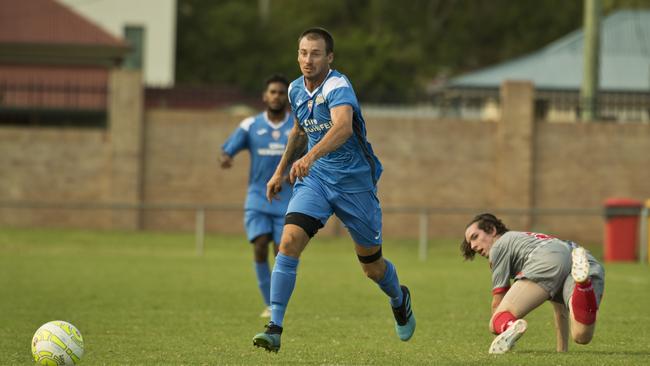
<path fill-rule="evenodd" d="M 364 273 L 388 295 L 398 337 L 408 341 L 415 331 L 411 295 L 400 286 L 393 264 L 381 254 L 381 207 L 377 180 L 382 166 L 366 139 L 366 126 L 350 81 L 330 69 L 334 40 L 326 30 L 311 28 L 298 39 L 302 77 L 289 85 L 296 117 L 287 149 L 267 184 L 267 198 L 284 188 L 290 168 L 293 195 L 289 201 L 280 251 L 271 275 L 271 321 L 253 344 L 277 352 L 284 314 L 296 282 L 299 257 L 332 214 L 343 222 L 355 242 Z M 304 156 L 300 153 L 307 146 Z"/>

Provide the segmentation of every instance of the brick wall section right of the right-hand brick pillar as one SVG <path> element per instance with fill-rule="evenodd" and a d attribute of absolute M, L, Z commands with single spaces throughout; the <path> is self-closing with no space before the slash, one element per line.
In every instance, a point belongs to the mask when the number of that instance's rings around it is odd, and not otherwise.
<path fill-rule="evenodd" d="M 599 207 L 609 197 L 650 198 L 650 125 L 538 124 L 533 179 L 535 206 Z M 602 217 L 543 216 L 540 230 L 597 242 Z"/>

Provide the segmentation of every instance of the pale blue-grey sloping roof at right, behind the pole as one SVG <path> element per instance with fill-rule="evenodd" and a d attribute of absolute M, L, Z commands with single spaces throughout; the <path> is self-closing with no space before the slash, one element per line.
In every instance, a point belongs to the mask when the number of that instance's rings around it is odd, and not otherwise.
<path fill-rule="evenodd" d="M 600 90 L 650 90 L 650 10 L 622 10 L 603 19 Z M 580 89 L 582 29 L 539 51 L 450 81 L 456 88 L 498 88 L 504 80 L 530 80 L 539 89 Z"/>

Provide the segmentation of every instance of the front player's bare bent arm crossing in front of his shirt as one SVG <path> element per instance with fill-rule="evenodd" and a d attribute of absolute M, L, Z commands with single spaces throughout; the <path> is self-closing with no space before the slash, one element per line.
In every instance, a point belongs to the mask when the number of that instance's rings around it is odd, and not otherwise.
<path fill-rule="evenodd" d="M 312 164 L 326 154 L 338 149 L 352 136 L 352 106 L 340 105 L 330 109 L 332 128 L 323 136 L 305 156 L 298 159 L 291 167 L 289 179 L 306 177 Z"/>

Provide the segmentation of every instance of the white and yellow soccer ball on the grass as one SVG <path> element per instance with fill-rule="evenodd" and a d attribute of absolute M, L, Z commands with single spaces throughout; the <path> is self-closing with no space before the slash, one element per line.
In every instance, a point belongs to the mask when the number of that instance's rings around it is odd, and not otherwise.
<path fill-rule="evenodd" d="M 84 354 L 84 340 L 74 325 L 62 320 L 43 324 L 32 339 L 32 355 L 39 365 L 76 365 Z"/>

